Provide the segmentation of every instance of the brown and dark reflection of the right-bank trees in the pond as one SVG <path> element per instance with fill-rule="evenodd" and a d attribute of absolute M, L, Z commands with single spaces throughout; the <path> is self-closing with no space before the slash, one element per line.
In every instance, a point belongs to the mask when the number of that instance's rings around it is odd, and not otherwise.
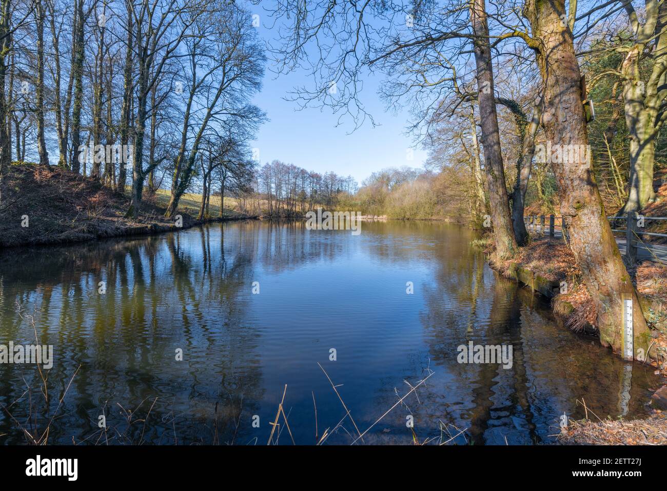
<path fill-rule="evenodd" d="M 590 339 L 559 327 L 530 290 L 490 271 L 480 255 L 466 257 L 470 254 L 440 255 L 436 287 L 426 295 L 422 323 L 432 368 L 445 371 L 442 378 L 432 377 L 440 382 L 430 384 L 429 397 L 441 409 L 430 407 L 430 415 L 468 428 L 476 444 L 504 444 L 505 437 L 510 443 L 544 442 L 557 431 L 559 414 L 584 416 L 576 405 L 582 397 L 601 417 L 616 416 L 622 363 Z M 512 368 L 458 363 L 456 348 L 468 341 L 512 344 Z M 650 374 L 640 371 L 645 399 Z M 633 384 L 630 390 L 632 410 L 641 414 L 642 389 Z"/>

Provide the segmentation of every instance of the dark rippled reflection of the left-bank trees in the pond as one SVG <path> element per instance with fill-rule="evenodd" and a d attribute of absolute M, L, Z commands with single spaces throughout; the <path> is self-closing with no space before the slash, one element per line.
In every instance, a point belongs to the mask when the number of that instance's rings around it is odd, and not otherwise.
<path fill-rule="evenodd" d="M 236 230 L 209 226 L 41 249 L 45 253 L 35 261 L 23 253 L 13 261 L 0 257 L 2 339 L 32 339 L 15 312 L 19 301 L 38 309 L 41 343 L 54 345 L 54 394 L 81 364 L 50 442 L 96 432 L 102 407 L 107 426 L 122 426 L 116 403 L 127 410 L 141 405 L 137 415 L 145 415 L 155 397 L 144 436 L 149 442 L 173 442 L 172 416 L 179 442 L 210 443 L 214 433 L 225 442 L 235 433 L 241 407 L 245 414 L 256 412 L 261 372 L 245 297 L 255 268 L 247 246 L 257 243 L 259 228 L 241 228 L 240 240 L 233 237 Z M 223 229 L 232 235 L 227 244 Z M 106 281 L 106 295 L 97 294 L 99 281 Z M 175 361 L 177 347 L 183 349 L 181 362 Z M 1 366 L 0 401 L 17 399 L 24 390 L 20 375 L 35 383 L 35 372 L 31 366 Z M 13 408 L 15 416 L 21 411 Z M 10 434 L 5 442 L 23 441 L 4 414 L 0 430 Z"/>

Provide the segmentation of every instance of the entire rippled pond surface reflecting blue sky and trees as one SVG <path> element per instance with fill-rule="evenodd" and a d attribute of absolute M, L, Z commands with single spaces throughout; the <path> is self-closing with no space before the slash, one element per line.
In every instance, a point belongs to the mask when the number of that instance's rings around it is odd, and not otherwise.
<path fill-rule="evenodd" d="M 636 365 L 630 373 L 597 340 L 558 327 L 529 291 L 491 271 L 470 239 L 468 230 L 432 222 L 364 222 L 352 236 L 250 221 L 5 251 L 0 343 L 33 339 L 19 302 L 37 309 L 41 343 L 54 345 L 51 394 L 81 365 L 51 443 L 97 440 L 104 411 L 107 426 L 123 434 L 112 443 L 138 443 L 143 431 L 149 443 L 264 444 L 287 384 L 291 432 L 312 444 L 313 395 L 320 435 L 345 414 L 318 362 L 362 431 L 410 389 L 406 381 L 434 371 L 419 400 L 410 395 L 366 443 L 410 443 L 411 412 L 421 440 L 444 424 L 454 434 L 467 428 L 476 444 L 549 441 L 558 416 L 584 416 L 578 399 L 601 418 L 642 414 L 656 383 L 650 370 Z M 99 281 L 106 295 L 97 294 Z M 512 343 L 512 368 L 457 363 L 457 347 L 468 341 Z M 177 348 L 183 361 L 175 361 Z M 0 365 L 0 375 L 3 404 L 25 391 L 22 376 L 35 383 L 30 366 Z M 151 405 L 145 429 L 127 426 L 121 406 L 141 419 Z M 13 414 L 25 418 L 25 407 Z M 350 442 L 346 430 L 356 430 L 344 426 L 329 443 Z M 1 442 L 23 442 L 3 414 L 5 432 Z"/>

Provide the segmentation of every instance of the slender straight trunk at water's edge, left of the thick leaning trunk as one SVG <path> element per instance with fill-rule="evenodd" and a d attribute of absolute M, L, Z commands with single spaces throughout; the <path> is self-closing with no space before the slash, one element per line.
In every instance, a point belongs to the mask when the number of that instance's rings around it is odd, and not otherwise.
<path fill-rule="evenodd" d="M 476 36 L 474 41 L 477 68 L 478 102 L 480 104 L 480 126 L 484 147 L 484 170 L 488 183 L 491 220 L 494 227 L 496 253 L 507 259 L 517 251 L 510 214 L 510 202 L 505 185 L 505 170 L 500 151 L 498 114 L 494 99 L 494 74 L 489 46 L 489 27 L 486 21 L 484 0 L 471 0 L 470 20 Z"/>

